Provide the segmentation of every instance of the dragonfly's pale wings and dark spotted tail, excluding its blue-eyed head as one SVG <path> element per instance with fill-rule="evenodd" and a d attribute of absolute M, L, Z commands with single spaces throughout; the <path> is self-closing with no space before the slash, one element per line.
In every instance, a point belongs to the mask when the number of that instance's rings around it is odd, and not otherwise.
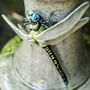
<path fill-rule="evenodd" d="M 67 15 L 63 20 L 59 21 L 55 25 L 46 28 L 46 30 L 42 30 L 39 33 L 34 35 L 28 34 L 26 30 L 18 24 L 19 28 L 8 19 L 4 14 L 2 17 L 9 24 L 12 30 L 22 39 L 29 40 L 30 42 L 37 42 L 39 46 L 43 47 L 48 55 L 53 60 L 58 72 L 60 73 L 65 85 L 68 85 L 68 80 L 65 72 L 62 70 L 56 56 L 51 51 L 49 45 L 55 45 L 60 43 L 62 40 L 66 39 L 76 30 L 79 30 L 83 25 L 85 25 L 89 21 L 89 17 L 82 18 L 84 13 L 89 8 L 89 3 L 84 2 L 79 7 L 77 7 L 74 11 L 72 11 L 69 15 Z"/>

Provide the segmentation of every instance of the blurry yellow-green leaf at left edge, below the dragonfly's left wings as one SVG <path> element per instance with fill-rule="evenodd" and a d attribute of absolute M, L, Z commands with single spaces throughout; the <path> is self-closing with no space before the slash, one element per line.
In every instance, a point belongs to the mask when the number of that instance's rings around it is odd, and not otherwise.
<path fill-rule="evenodd" d="M 13 37 L 2 48 L 0 52 L 0 57 L 5 57 L 14 54 L 16 48 L 18 48 L 21 45 L 21 42 L 22 40 L 18 36 Z"/>

